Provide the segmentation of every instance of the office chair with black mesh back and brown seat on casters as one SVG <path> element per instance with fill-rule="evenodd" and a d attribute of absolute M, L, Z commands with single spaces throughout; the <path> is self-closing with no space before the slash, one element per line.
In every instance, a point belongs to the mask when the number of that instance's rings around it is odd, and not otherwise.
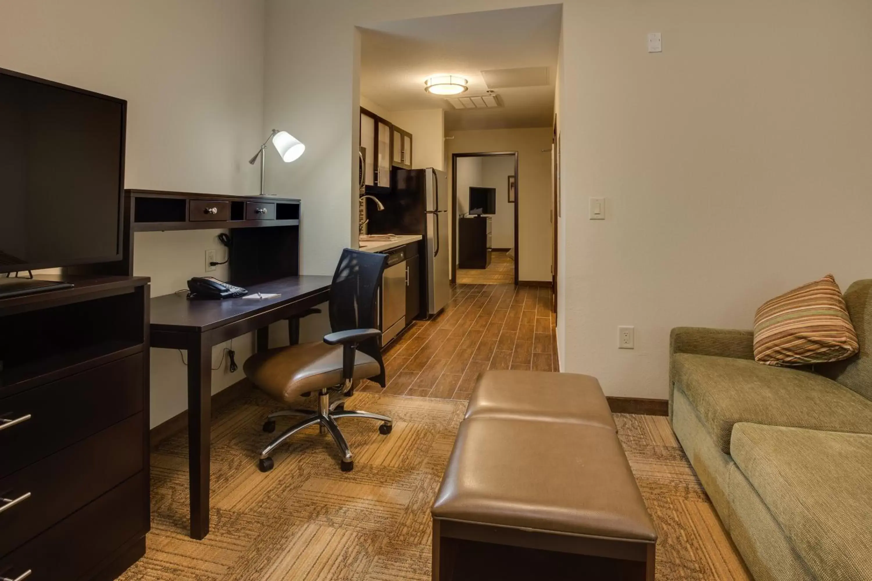
<path fill-rule="evenodd" d="M 262 472 L 273 468 L 270 455 L 285 440 L 301 429 L 319 424 L 321 433 L 329 432 L 342 453 L 342 470 L 354 469 L 351 449 L 337 425 L 337 419 L 362 417 L 378 420 L 378 431 L 391 433 L 391 418 L 359 410 L 344 409 L 354 382 L 371 379 L 385 387 L 385 362 L 382 361 L 376 327 L 376 298 L 385 272 L 385 254 L 365 253 L 346 248 L 342 252 L 330 285 L 330 334 L 323 342 L 303 343 L 269 349 L 249 357 L 243 366 L 245 375 L 258 388 L 285 403 L 308 392 L 318 393 L 318 409 L 288 409 L 270 414 L 263 431 L 276 430 L 276 418 L 303 415 L 276 437 L 261 452 L 258 466 Z M 339 398 L 330 403 L 330 393 Z"/>

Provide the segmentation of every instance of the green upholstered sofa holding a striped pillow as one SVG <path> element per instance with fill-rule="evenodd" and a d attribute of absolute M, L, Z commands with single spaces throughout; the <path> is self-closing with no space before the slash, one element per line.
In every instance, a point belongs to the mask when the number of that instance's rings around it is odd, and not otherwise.
<path fill-rule="evenodd" d="M 844 296 L 860 353 L 814 368 L 671 332 L 672 429 L 756 581 L 872 579 L 872 280 Z"/>

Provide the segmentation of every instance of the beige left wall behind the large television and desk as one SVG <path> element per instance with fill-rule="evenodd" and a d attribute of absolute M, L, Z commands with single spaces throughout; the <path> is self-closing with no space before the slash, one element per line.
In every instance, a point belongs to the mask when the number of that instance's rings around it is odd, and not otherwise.
<path fill-rule="evenodd" d="M 256 193 L 264 16 L 260 0 L 2 3 L 0 67 L 127 99 L 126 187 Z M 153 295 L 185 288 L 206 249 L 223 255 L 218 233 L 137 233 L 134 273 Z M 240 366 L 251 342 L 234 341 Z M 225 359 L 213 390 L 241 377 Z M 152 349 L 152 425 L 187 408 L 186 381 L 177 351 Z"/>

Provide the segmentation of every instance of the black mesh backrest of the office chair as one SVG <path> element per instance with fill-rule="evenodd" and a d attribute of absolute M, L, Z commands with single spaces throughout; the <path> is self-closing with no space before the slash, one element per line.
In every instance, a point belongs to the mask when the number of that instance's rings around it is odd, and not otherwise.
<path fill-rule="evenodd" d="M 387 256 L 345 248 L 330 285 L 330 330 L 349 331 L 378 328 L 378 288 L 381 287 Z M 369 339 L 358 350 L 378 361 L 381 374 L 371 378 L 385 387 L 385 362 L 377 339 Z"/>

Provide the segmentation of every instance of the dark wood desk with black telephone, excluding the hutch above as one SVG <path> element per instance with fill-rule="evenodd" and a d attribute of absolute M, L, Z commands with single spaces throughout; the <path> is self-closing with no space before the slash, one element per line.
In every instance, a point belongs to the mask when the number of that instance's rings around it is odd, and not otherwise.
<path fill-rule="evenodd" d="M 327 301 L 330 276 L 289 276 L 248 286 L 272 299 L 188 301 L 184 294 L 151 300 L 151 344 L 187 350 L 187 435 L 191 491 L 191 537 L 209 531 L 209 430 L 212 419 L 212 347 L 257 331 L 257 350 L 267 348 L 269 324 Z M 291 326 L 291 341 L 298 333 Z M 296 341 L 294 341 L 296 342 Z"/>

